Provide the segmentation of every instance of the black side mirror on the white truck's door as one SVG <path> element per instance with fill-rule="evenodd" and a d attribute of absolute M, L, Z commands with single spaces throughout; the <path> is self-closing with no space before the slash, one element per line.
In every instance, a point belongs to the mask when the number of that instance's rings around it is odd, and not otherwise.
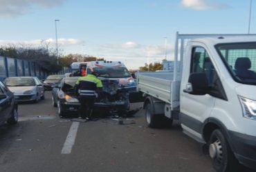
<path fill-rule="evenodd" d="M 188 78 L 188 85 L 186 85 L 186 89 L 183 92 L 192 95 L 205 95 L 208 94 L 210 90 L 208 79 L 205 73 L 192 73 Z"/>

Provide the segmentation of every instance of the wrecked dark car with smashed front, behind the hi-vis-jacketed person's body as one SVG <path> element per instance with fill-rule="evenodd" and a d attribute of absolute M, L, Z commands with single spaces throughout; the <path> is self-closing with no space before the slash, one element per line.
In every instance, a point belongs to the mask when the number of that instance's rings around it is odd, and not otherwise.
<path fill-rule="evenodd" d="M 52 102 L 57 107 L 59 116 L 67 117 L 70 114 L 78 114 L 80 102 L 75 95 L 75 82 L 78 77 L 63 78 L 53 85 Z M 94 109 L 107 109 L 125 113 L 129 110 L 129 93 L 127 89 L 119 87 L 118 80 L 101 78 L 102 92 L 96 98 Z"/>

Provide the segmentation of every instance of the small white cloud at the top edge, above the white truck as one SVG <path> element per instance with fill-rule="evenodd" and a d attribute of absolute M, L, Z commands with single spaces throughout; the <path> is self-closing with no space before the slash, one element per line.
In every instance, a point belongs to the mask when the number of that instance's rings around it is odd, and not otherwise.
<path fill-rule="evenodd" d="M 228 8 L 226 4 L 213 2 L 210 0 L 181 0 L 181 3 L 186 8 L 191 8 L 192 10 L 211 10 L 219 8 Z"/>

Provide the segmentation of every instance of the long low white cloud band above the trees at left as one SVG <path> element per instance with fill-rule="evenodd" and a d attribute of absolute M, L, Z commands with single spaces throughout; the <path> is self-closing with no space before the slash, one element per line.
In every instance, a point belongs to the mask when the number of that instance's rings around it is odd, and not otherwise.
<path fill-rule="evenodd" d="M 35 39 L 30 41 L 4 41 L 0 40 L 0 45 L 42 45 L 42 43 L 47 43 L 49 45 L 55 45 L 55 39 Z M 58 45 L 69 46 L 69 45 L 81 45 L 84 41 L 79 39 L 58 39 Z"/>

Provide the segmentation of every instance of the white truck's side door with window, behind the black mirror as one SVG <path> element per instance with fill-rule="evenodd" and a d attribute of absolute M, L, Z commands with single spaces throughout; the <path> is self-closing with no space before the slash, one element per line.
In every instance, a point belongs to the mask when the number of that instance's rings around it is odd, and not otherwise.
<path fill-rule="evenodd" d="M 194 72 L 203 72 L 208 78 L 209 85 L 213 84 L 215 72 L 214 66 L 210 59 L 210 56 L 203 47 L 203 45 L 194 45 L 189 50 L 188 55 L 185 58 L 187 64 L 184 63 L 183 78 L 181 82 L 181 90 L 185 89 L 188 85 L 188 77 Z M 190 61 L 190 63 L 189 63 Z M 215 98 L 209 94 L 203 96 L 192 95 L 181 91 L 181 125 L 184 131 L 187 131 L 201 138 L 201 126 L 208 116 L 212 107 L 214 106 Z"/>

